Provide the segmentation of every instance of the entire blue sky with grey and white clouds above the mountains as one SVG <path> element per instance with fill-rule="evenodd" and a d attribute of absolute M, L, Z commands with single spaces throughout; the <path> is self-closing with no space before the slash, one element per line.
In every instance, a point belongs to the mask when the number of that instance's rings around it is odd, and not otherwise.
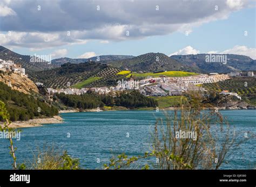
<path fill-rule="evenodd" d="M 0 0 L 0 45 L 52 59 L 150 52 L 256 59 L 255 12 L 254 0 Z"/>

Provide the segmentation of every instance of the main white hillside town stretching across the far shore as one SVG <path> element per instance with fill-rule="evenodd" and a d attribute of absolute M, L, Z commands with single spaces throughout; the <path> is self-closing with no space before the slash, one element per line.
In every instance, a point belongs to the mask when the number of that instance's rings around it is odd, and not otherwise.
<path fill-rule="evenodd" d="M 100 88 L 66 88 L 66 89 L 52 89 L 47 88 L 49 95 L 53 93 L 65 93 L 70 95 L 82 95 L 87 91 L 101 94 L 112 93 L 115 95 L 117 91 L 123 90 L 138 90 L 145 96 L 180 96 L 187 91 L 198 90 L 205 91 L 201 86 L 204 83 L 214 83 L 219 81 L 225 81 L 230 76 L 225 74 L 200 74 L 187 77 L 146 77 L 140 81 L 135 81 L 130 78 L 129 81 L 118 81 L 115 87 L 100 87 Z M 42 85 L 42 83 L 37 83 Z"/>

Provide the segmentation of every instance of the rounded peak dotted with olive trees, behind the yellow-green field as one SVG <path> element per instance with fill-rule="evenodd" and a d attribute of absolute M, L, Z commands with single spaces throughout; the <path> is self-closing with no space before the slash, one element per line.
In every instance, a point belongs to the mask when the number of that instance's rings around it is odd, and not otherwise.
<path fill-rule="evenodd" d="M 146 53 L 133 57 L 132 59 L 108 61 L 113 67 L 120 69 L 129 69 L 132 71 L 155 72 L 164 70 L 180 70 L 200 72 L 200 69 L 191 68 L 179 63 L 163 53 Z"/>

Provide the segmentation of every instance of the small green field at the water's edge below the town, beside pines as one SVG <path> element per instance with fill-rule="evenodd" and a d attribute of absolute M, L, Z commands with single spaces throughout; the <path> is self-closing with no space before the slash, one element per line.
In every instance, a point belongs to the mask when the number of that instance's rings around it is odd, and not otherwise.
<path fill-rule="evenodd" d="M 166 107 L 175 107 L 179 106 L 181 99 L 186 100 L 184 96 L 161 96 L 161 97 L 151 97 L 157 100 L 158 107 L 160 109 Z"/>

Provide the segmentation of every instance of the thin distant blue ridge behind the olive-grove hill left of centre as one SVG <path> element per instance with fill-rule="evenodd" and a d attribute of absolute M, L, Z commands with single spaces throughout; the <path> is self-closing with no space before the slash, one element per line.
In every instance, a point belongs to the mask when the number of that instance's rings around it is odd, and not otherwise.
<path fill-rule="evenodd" d="M 62 65 L 64 63 L 84 63 L 84 62 L 89 62 L 91 61 L 95 61 L 97 62 L 97 60 L 99 59 L 99 62 L 101 63 L 106 63 L 106 61 L 109 60 L 124 60 L 124 59 L 131 59 L 134 56 L 131 55 L 100 55 L 100 56 L 93 56 L 90 57 L 89 59 L 70 59 L 68 57 L 61 57 L 59 59 L 53 59 L 51 62 L 52 64 L 58 64 L 58 65 Z"/>

